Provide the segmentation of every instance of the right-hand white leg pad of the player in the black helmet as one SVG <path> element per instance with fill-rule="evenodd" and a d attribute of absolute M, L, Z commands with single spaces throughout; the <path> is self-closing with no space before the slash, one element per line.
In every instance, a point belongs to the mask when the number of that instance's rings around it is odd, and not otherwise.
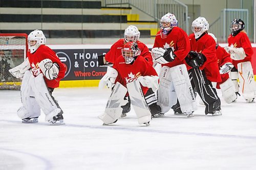
<path fill-rule="evenodd" d="M 238 78 L 240 90 L 245 100 L 251 100 L 256 97 L 254 75 L 249 61 L 238 63 Z"/>

